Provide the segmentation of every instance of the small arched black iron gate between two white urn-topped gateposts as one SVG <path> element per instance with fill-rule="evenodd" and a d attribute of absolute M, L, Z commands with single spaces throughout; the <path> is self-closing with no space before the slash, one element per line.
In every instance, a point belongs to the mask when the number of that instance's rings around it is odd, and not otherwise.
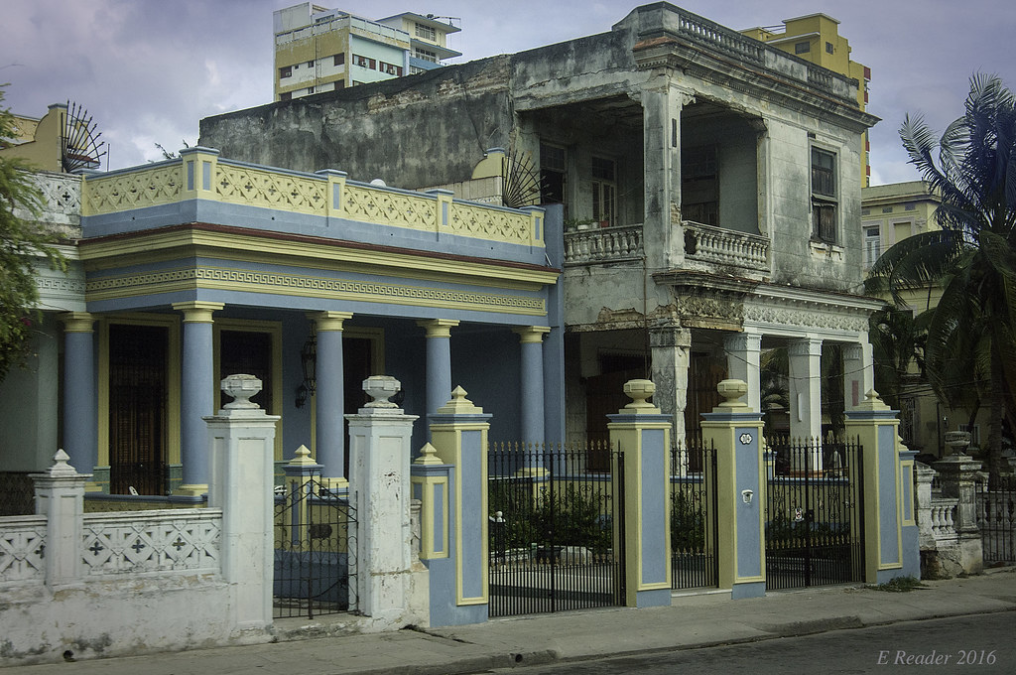
<path fill-rule="evenodd" d="M 274 617 L 355 610 L 357 514 L 317 478 L 275 488 Z"/>

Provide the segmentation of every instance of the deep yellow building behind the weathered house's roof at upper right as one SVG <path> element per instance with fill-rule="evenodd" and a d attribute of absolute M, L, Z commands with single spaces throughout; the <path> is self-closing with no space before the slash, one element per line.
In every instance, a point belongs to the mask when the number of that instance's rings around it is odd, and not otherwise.
<path fill-rule="evenodd" d="M 827 14 L 808 14 L 783 20 L 783 26 L 755 27 L 742 30 L 742 35 L 767 43 L 787 54 L 793 54 L 815 65 L 858 80 L 858 106 L 868 106 L 868 82 L 872 69 L 850 60 L 850 45 L 839 35 L 839 21 Z M 861 138 L 862 184 L 868 187 L 872 168 L 868 159 L 870 144 L 868 132 Z"/>

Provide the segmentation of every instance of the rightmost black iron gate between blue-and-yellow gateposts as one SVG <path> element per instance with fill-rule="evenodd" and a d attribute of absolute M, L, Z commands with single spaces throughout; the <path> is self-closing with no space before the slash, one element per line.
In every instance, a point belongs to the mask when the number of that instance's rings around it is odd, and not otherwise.
<path fill-rule="evenodd" d="M 861 445 L 782 440 L 769 450 L 766 589 L 863 581 Z"/>

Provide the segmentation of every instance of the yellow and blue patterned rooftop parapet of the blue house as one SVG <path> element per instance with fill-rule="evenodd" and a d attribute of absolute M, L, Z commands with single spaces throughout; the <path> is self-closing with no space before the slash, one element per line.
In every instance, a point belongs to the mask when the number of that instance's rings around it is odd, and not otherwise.
<path fill-rule="evenodd" d="M 355 239 L 336 221 L 434 237 L 452 235 L 480 244 L 544 248 L 544 211 L 518 210 L 454 199 L 448 190 L 427 193 L 352 181 L 341 171 L 314 174 L 225 160 L 193 147 L 179 159 L 86 177 L 81 196 L 84 236 L 102 236 L 180 224 L 185 202 L 268 209 L 223 225 L 282 231 L 287 223 L 319 225 L 322 236 Z M 138 211 L 144 212 L 138 212 Z M 197 219 L 214 209 L 194 207 Z M 118 218 L 119 217 L 119 218 Z M 176 218 L 174 222 L 173 219 Z M 322 219 L 320 221 L 315 219 Z M 89 228 L 89 222 L 104 223 Z M 305 228 L 304 234 L 311 234 Z M 390 233 L 391 231 L 389 231 Z M 399 245 L 397 240 L 390 244 Z M 543 258 L 543 253 L 541 253 Z"/>

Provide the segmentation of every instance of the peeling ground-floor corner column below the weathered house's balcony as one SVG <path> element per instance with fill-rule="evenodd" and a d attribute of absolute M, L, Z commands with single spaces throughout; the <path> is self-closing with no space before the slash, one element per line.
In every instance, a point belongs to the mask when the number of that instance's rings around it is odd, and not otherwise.
<path fill-rule="evenodd" d="M 688 406 L 688 367 L 691 365 L 692 331 L 676 325 L 649 329 L 652 350 L 653 402 L 674 420 L 672 441 L 686 446 L 685 408 Z"/>

